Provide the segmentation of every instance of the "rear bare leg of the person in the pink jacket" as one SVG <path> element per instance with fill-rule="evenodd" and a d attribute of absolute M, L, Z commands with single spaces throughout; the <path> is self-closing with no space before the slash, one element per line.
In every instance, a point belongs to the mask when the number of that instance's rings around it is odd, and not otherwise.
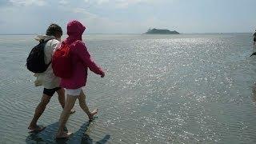
<path fill-rule="evenodd" d="M 58 132 L 56 134 L 56 138 L 68 137 L 68 134 L 64 132 L 64 127 L 66 126 L 66 122 L 70 116 L 70 110 L 73 108 L 76 99 L 77 99 L 77 96 L 72 96 L 72 95 L 66 96 L 66 104 L 59 118 L 59 126 L 58 126 Z"/>

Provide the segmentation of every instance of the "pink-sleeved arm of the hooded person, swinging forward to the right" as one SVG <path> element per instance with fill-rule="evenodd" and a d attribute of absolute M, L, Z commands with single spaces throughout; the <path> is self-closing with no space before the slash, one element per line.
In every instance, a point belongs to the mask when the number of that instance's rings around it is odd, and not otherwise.
<path fill-rule="evenodd" d="M 100 74 L 104 77 L 105 74 L 103 70 L 94 62 L 94 59 L 90 56 L 85 44 L 79 41 L 75 42 L 74 46 L 76 47 L 74 50 L 76 51 L 78 58 L 82 60 L 83 65 L 89 67 L 95 74 Z"/>

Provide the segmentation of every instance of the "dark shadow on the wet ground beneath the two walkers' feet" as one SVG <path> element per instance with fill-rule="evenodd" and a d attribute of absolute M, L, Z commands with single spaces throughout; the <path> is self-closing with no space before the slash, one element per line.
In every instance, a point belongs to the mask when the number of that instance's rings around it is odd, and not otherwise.
<path fill-rule="evenodd" d="M 26 137 L 26 143 L 34 144 L 34 143 L 80 143 L 80 144 L 104 144 L 110 139 L 110 135 L 106 134 L 104 138 L 99 140 L 98 142 L 94 142 L 92 138 L 88 134 L 85 134 L 86 130 L 90 126 L 90 122 L 84 123 L 80 129 L 72 134 L 70 138 L 66 139 L 55 139 L 55 134 L 58 130 L 58 122 L 55 122 L 49 126 L 46 126 L 45 130 L 42 130 L 40 133 L 33 133 Z"/>

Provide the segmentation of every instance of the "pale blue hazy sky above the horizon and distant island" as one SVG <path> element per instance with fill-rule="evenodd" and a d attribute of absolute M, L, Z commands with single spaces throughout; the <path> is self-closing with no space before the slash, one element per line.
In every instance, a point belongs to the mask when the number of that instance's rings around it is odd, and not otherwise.
<path fill-rule="evenodd" d="M 0 0 L 0 34 L 45 34 L 50 23 L 66 33 L 73 19 L 87 34 L 252 33 L 256 0 Z"/>

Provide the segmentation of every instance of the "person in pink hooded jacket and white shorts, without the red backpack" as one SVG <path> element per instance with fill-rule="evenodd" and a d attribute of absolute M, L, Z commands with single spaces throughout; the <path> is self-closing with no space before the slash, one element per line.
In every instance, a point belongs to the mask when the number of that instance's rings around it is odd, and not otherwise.
<path fill-rule="evenodd" d="M 82 33 L 86 30 L 78 21 L 71 21 L 67 24 L 68 38 L 64 40 L 70 47 L 70 54 L 72 55 L 73 74 L 71 78 L 62 78 L 61 86 L 66 88 L 66 104 L 62 110 L 62 114 L 59 120 L 58 132 L 56 138 L 67 138 L 70 133 L 64 132 L 63 129 L 66 126 L 66 122 L 70 116 L 70 110 L 73 108 L 76 99 L 79 100 L 79 105 L 86 112 L 90 120 L 94 118 L 94 114 L 97 114 L 98 109 L 90 112 L 86 106 L 86 95 L 82 91 L 82 86 L 86 86 L 87 70 L 88 68 L 95 74 L 105 76 L 103 70 L 96 65 L 93 58 L 90 57 L 89 52 L 86 49 L 85 43 L 82 42 Z"/>

